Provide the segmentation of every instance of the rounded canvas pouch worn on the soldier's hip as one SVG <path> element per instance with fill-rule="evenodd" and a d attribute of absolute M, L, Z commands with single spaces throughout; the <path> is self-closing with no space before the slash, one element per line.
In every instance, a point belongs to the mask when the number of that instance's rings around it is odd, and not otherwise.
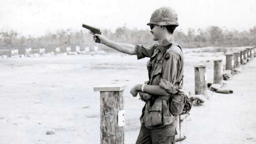
<path fill-rule="evenodd" d="M 176 94 L 171 96 L 169 99 L 169 110 L 171 114 L 178 116 L 183 112 L 183 108 L 185 106 L 185 97 L 186 94 L 180 89 L 178 89 Z"/>

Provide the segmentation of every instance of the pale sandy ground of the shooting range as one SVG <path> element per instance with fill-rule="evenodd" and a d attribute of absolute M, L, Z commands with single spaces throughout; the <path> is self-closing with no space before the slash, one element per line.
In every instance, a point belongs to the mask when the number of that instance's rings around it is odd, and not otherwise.
<path fill-rule="evenodd" d="M 225 65 L 222 52 L 183 51 L 183 88 L 192 94 L 193 65 L 207 65 L 208 82 L 213 82 L 212 60 L 223 59 Z M 129 91 L 148 80 L 147 60 L 122 54 L 0 59 L 0 144 L 99 144 L 100 93 L 93 87 L 102 84 L 127 85 L 125 143 L 134 144 L 144 103 Z M 253 59 L 225 81 L 234 94 L 208 91 L 210 99 L 194 106 L 191 120 L 182 123 L 187 137 L 182 143 L 256 143 L 255 74 Z M 47 130 L 55 134 L 47 135 Z"/>

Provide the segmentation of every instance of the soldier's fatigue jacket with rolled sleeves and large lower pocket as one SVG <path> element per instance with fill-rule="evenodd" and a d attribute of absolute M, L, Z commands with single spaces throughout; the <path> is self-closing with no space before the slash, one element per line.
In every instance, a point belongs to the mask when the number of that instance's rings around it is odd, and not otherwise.
<path fill-rule="evenodd" d="M 147 62 L 148 84 L 159 85 L 170 94 L 169 96 L 153 95 L 151 97 L 155 99 L 153 105 L 150 105 L 150 100 L 146 101 L 140 122 L 149 129 L 162 128 L 168 124 L 173 124 L 174 133 L 176 133 L 176 116 L 170 113 L 168 100 L 172 94 L 177 92 L 182 78 L 183 53 L 181 48 L 173 39 L 165 39 L 162 45 L 155 44 L 146 47 L 138 44 L 135 46 L 135 51 L 138 59 L 150 58 Z"/>

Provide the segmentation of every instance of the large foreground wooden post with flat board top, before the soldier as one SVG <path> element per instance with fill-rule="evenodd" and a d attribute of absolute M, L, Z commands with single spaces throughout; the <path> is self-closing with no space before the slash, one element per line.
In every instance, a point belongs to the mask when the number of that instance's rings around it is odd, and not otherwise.
<path fill-rule="evenodd" d="M 101 144 L 124 144 L 124 87 L 94 87 L 94 91 L 100 91 Z"/>

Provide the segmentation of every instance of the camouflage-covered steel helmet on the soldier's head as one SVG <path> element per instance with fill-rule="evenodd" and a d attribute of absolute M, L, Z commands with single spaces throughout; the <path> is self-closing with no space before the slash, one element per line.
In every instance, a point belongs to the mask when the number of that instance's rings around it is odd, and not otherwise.
<path fill-rule="evenodd" d="M 150 22 L 147 25 L 150 24 L 159 26 L 178 26 L 178 15 L 171 7 L 160 7 L 151 15 Z"/>

